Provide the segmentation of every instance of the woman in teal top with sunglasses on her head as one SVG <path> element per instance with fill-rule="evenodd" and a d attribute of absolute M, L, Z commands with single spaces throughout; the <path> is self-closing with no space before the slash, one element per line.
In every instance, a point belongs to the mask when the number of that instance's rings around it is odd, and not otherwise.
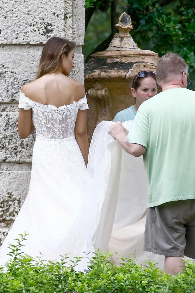
<path fill-rule="evenodd" d="M 125 122 L 134 120 L 139 106 L 146 100 L 155 96 L 157 92 L 156 72 L 154 71 L 140 71 L 133 79 L 132 96 L 135 98 L 135 104 L 131 107 L 122 110 L 116 114 L 113 121 Z"/>

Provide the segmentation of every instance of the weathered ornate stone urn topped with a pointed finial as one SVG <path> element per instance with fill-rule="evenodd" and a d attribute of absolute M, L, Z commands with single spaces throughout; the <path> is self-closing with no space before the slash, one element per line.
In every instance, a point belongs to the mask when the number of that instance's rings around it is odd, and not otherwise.
<path fill-rule="evenodd" d="M 158 53 L 137 47 L 129 33 L 133 27 L 128 14 L 122 13 L 116 26 L 119 33 L 109 47 L 92 54 L 85 64 L 89 140 L 99 122 L 113 120 L 116 113 L 135 103 L 130 90 L 134 75 L 155 71 L 159 59 Z"/>

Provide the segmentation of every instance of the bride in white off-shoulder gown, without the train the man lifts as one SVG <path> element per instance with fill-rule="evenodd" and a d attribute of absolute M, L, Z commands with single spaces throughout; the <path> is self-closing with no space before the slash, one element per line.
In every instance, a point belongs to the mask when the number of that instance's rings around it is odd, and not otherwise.
<path fill-rule="evenodd" d="M 23 252 L 59 260 L 60 255 L 86 256 L 87 230 L 81 188 L 88 139 L 84 86 L 68 77 L 75 44 L 54 37 L 46 42 L 37 79 L 22 87 L 18 132 L 22 139 L 34 127 L 32 172 L 28 195 L 0 249 L 0 265 L 10 258 L 9 243 L 29 233 Z M 86 267 L 84 260 L 80 269 Z"/>

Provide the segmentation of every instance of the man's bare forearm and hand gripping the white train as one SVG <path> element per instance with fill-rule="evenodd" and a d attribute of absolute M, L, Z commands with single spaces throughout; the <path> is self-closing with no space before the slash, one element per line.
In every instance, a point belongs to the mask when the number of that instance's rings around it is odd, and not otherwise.
<path fill-rule="evenodd" d="M 122 126 L 120 121 L 112 125 L 108 131 L 114 139 L 118 140 L 122 148 L 128 153 L 135 157 L 139 157 L 146 152 L 146 147 L 141 144 L 132 144 L 126 141 L 127 135 L 125 133 L 125 128 Z"/>

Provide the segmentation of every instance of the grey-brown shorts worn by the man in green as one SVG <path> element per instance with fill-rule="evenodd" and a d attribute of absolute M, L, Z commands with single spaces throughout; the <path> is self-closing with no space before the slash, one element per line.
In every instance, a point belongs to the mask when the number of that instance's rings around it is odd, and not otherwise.
<path fill-rule="evenodd" d="M 147 209 L 144 251 L 195 258 L 195 199 Z"/>

